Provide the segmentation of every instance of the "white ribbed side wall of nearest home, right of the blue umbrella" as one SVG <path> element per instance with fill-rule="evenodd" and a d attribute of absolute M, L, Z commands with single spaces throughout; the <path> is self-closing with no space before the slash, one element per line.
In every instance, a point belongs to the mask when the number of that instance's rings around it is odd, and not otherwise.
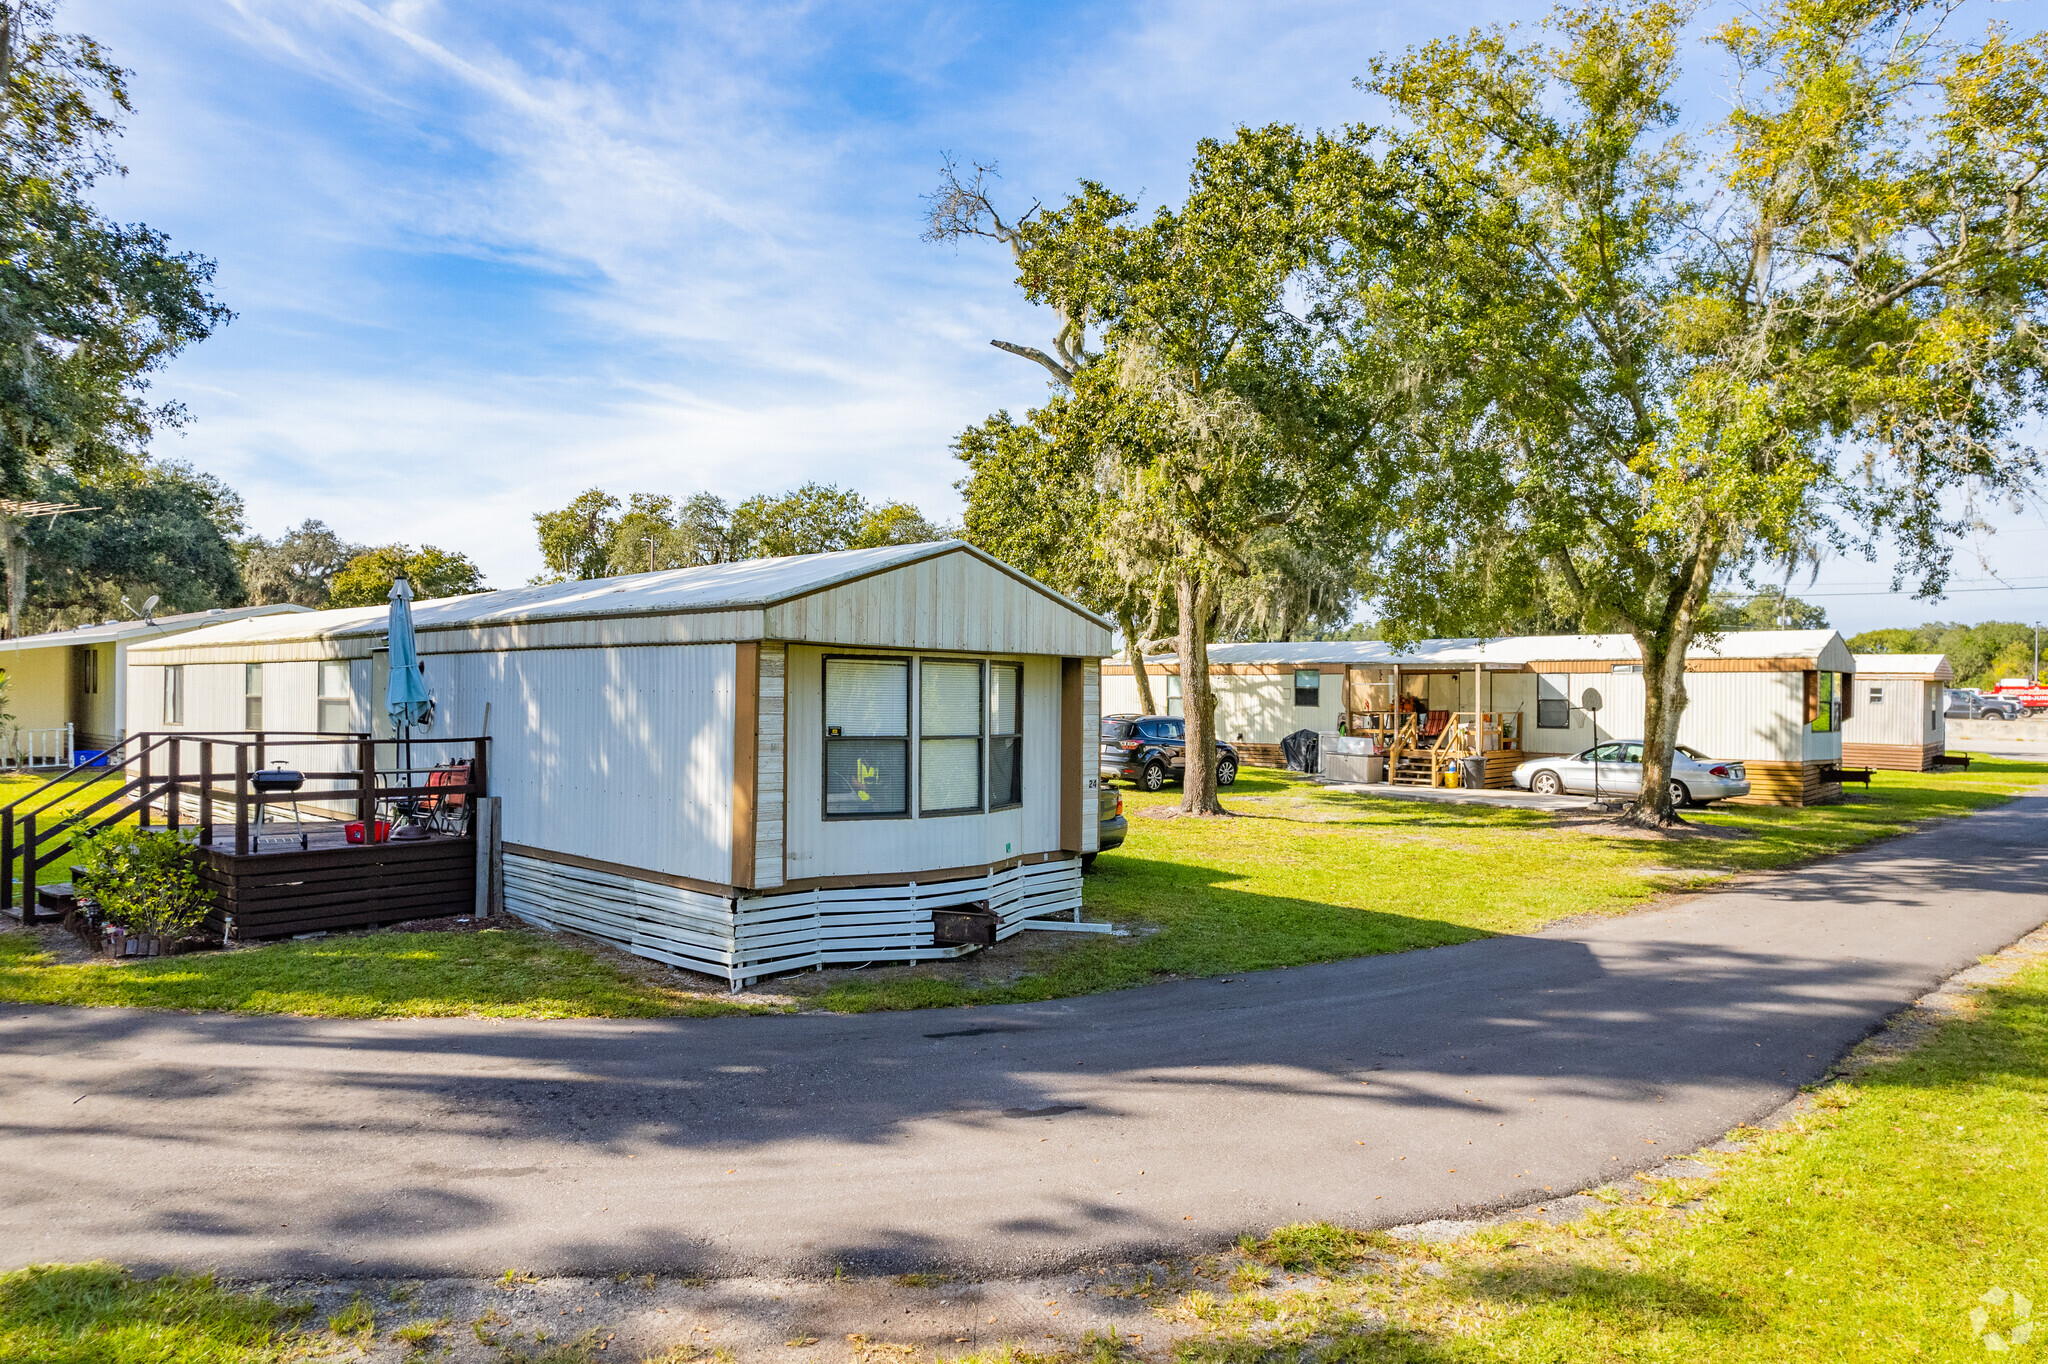
<path fill-rule="evenodd" d="M 428 662 L 434 731 L 492 707 L 504 840 L 731 881 L 733 645 L 535 649 Z"/>

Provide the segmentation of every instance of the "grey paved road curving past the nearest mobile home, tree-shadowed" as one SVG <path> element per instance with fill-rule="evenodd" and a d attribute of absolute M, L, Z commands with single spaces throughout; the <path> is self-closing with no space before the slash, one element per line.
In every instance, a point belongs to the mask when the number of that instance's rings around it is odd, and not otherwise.
<path fill-rule="evenodd" d="M 1622 920 L 1030 1008 L 0 1012 L 0 1264 L 1047 1270 L 1559 1194 L 2048 920 L 2048 797 Z"/>

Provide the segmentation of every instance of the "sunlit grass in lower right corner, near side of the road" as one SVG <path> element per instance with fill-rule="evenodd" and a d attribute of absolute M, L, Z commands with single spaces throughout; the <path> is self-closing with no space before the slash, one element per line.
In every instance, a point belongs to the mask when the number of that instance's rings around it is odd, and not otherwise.
<path fill-rule="evenodd" d="M 1337 1272 L 1274 1290 L 1237 1270 L 1235 1292 L 1219 1284 L 1169 1311 L 1204 1331 L 1182 1346 L 1190 1362 L 1964 1360 L 1999 1352 L 1987 1331 L 2023 1356 L 2048 1348 L 2044 1116 L 2048 965 L 2036 965 L 1974 1018 L 1825 1090 L 1792 1128 L 1716 1157 L 1718 1182 L 1636 1184 L 1581 1223 L 1434 1247 L 1286 1229 L 1253 1260 L 1303 1262 L 1303 1245 L 1321 1245 L 1335 1253 L 1307 1268 Z M 1339 1268 L 1360 1262 L 1370 1270 Z M 2034 1303 L 2040 1339 L 2025 1329 Z"/>

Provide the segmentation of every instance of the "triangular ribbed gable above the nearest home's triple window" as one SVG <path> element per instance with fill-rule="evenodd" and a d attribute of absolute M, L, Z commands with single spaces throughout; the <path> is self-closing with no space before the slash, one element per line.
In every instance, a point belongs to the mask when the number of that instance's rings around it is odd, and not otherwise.
<path fill-rule="evenodd" d="M 971 555 L 942 555 L 766 612 L 768 639 L 1100 657 L 1110 633 Z"/>

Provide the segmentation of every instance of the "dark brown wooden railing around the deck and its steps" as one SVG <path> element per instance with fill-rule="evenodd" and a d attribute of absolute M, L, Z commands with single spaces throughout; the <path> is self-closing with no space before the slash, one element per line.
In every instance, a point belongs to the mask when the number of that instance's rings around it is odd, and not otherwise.
<path fill-rule="evenodd" d="M 307 786 L 322 782 L 319 788 L 258 791 L 254 776 L 276 750 L 287 750 L 289 760 L 301 760 L 307 750 L 315 750 L 317 756 L 334 754 L 334 764 L 324 770 L 293 768 Z M 379 750 L 391 752 L 391 766 L 379 764 Z M 70 852 L 74 838 L 129 817 L 139 827 L 195 827 L 199 844 L 209 848 L 217 846 L 225 823 L 233 829 L 231 852 L 248 856 L 252 827 L 262 823 L 262 811 L 293 805 L 301 815 L 311 807 L 322 821 L 354 817 L 362 823 L 362 840 L 369 844 L 377 840 L 383 809 L 418 809 L 422 799 L 451 797 L 461 797 L 475 809 L 475 799 L 489 791 L 487 754 L 485 737 L 397 741 L 367 733 L 283 729 L 131 733 L 92 766 L 74 764 L 35 791 L 0 805 L 0 879 L 4 879 L 0 903 L 8 909 L 18 903 L 23 924 L 33 924 L 37 872 Z M 451 760 L 469 762 L 467 780 L 453 782 L 444 772 L 436 774 L 436 768 Z M 428 780 L 418 780 L 422 776 Z M 438 780 L 432 780 L 434 776 Z M 90 799 L 76 809 L 63 809 L 80 795 Z M 197 819 L 188 817 L 188 805 Z"/>

